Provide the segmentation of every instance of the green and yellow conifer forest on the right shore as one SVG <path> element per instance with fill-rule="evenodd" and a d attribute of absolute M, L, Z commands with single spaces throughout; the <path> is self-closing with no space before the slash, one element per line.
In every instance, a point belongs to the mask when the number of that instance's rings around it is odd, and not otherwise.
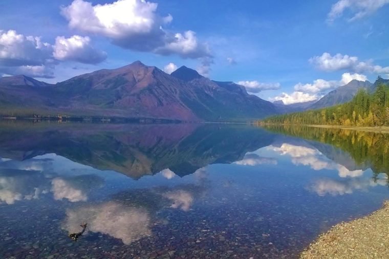
<path fill-rule="evenodd" d="M 389 126 L 389 80 L 379 77 L 374 93 L 361 89 L 348 103 L 262 120 L 275 124 L 323 124 L 346 126 Z"/>

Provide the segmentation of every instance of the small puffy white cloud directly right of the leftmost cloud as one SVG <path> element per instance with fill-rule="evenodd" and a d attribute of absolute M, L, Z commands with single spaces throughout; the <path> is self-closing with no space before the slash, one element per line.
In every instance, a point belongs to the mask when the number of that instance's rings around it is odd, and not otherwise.
<path fill-rule="evenodd" d="M 55 39 L 53 56 L 58 60 L 71 60 L 96 64 L 104 61 L 107 54 L 91 45 L 90 37 L 73 35 L 70 38 L 58 36 Z"/>

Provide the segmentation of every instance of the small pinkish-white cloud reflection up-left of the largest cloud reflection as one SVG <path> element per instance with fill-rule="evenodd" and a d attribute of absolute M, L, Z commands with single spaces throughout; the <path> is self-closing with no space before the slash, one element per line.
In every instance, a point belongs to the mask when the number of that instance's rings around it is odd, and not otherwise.
<path fill-rule="evenodd" d="M 55 200 L 68 199 L 71 202 L 87 201 L 88 197 L 82 190 L 76 189 L 66 180 L 55 178 L 51 181 Z"/>

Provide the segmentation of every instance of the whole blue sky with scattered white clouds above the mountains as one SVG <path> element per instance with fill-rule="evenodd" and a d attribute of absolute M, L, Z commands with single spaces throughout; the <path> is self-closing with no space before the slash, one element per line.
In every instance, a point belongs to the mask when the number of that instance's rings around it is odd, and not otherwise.
<path fill-rule="evenodd" d="M 0 75 L 59 82 L 136 60 L 285 104 L 389 78 L 389 0 L 2 0 Z"/>

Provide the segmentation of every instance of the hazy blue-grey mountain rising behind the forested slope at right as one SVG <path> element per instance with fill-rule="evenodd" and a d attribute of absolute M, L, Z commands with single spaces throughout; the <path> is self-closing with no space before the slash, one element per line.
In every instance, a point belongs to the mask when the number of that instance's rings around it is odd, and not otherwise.
<path fill-rule="evenodd" d="M 363 82 L 354 79 L 348 84 L 345 84 L 342 87 L 338 87 L 337 89 L 329 92 L 320 100 L 307 107 L 306 110 L 315 110 L 351 101 L 359 89 L 363 88 L 366 90 L 371 90 L 372 86 L 373 84 L 369 81 Z"/>

